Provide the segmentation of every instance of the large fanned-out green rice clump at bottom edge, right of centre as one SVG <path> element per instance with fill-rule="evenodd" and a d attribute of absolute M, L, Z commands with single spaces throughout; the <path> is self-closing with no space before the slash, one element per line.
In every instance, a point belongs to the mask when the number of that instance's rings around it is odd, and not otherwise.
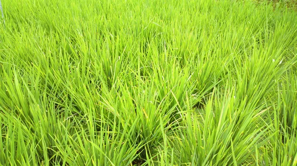
<path fill-rule="evenodd" d="M 225 93 L 223 99 L 212 98 L 203 113 L 189 112 L 185 128 L 176 133 L 173 145 L 177 151 L 175 163 L 189 166 L 245 165 L 255 151 L 255 144 L 263 144 L 269 126 L 259 127 L 261 108 L 245 105 L 234 99 L 235 91 Z M 238 111 L 239 109 L 240 111 Z M 237 119 L 245 114 L 243 121 Z"/>

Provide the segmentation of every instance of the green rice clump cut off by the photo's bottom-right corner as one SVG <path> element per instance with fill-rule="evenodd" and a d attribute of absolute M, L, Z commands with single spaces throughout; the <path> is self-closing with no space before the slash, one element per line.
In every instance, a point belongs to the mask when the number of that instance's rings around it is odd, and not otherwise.
<path fill-rule="evenodd" d="M 296 77 L 291 71 L 285 75 L 280 86 L 276 89 L 278 100 L 270 120 L 273 124 L 271 133 L 276 133 L 267 145 L 267 151 L 261 159 L 263 165 L 295 166 L 297 164 L 296 151 Z M 259 161 L 259 163 L 261 163 Z"/>

